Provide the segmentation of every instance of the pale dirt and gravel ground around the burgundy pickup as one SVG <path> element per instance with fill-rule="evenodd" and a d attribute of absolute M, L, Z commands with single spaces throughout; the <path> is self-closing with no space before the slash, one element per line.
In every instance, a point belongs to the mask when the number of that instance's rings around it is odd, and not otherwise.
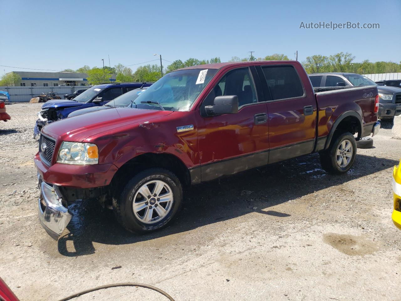
<path fill-rule="evenodd" d="M 22 301 L 120 282 L 154 285 L 177 301 L 401 300 L 393 124 L 383 123 L 374 148 L 358 149 L 346 175 L 326 174 L 314 154 L 197 185 L 175 224 L 143 236 L 84 201 L 56 242 L 37 218 L 40 107 L 7 106 L 12 120 L 0 124 L 0 275 Z M 79 300 L 163 298 L 118 288 Z"/>

